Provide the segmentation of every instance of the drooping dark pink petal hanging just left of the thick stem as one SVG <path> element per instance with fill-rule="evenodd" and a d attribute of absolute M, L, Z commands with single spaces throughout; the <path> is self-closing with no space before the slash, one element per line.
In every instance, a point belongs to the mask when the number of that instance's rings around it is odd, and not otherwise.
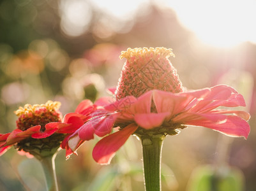
<path fill-rule="evenodd" d="M 98 141 L 93 149 L 93 159 L 100 164 L 109 164 L 116 151 L 124 145 L 137 128 L 137 125 L 130 124 Z"/>

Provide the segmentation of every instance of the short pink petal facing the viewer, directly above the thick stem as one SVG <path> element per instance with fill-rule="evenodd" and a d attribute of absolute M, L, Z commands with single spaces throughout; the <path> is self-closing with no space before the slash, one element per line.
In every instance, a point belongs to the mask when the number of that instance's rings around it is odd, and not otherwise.
<path fill-rule="evenodd" d="M 160 127 L 165 118 L 170 116 L 170 112 L 165 113 L 138 113 L 135 114 L 135 122 L 144 129 Z"/>

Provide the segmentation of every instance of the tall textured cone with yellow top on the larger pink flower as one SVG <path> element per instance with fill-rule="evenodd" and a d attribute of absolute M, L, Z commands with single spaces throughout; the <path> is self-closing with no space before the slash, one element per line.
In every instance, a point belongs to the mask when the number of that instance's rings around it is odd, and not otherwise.
<path fill-rule="evenodd" d="M 158 89 L 178 93 L 183 91 L 176 69 L 168 57 L 173 56 L 172 49 L 128 48 L 121 52 L 120 58 L 127 59 L 116 89 L 116 99 L 127 95 L 139 97 L 144 92 Z"/>

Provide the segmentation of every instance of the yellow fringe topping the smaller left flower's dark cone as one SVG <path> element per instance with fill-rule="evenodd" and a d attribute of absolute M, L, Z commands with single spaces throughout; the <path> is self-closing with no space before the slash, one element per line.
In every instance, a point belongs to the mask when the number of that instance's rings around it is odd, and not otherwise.
<path fill-rule="evenodd" d="M 24 108 L 19 107 L 14 113 L 20 117 L 22 114 L 34 113 L 38 108 L 46 108 L 48 111 L 55 111 L 58 110 L 60 106 L 61 103 L 59 101 L 47 101 L 45 104 L 34 104 L 33 106 L 31 104 L 26 104 Z"/>

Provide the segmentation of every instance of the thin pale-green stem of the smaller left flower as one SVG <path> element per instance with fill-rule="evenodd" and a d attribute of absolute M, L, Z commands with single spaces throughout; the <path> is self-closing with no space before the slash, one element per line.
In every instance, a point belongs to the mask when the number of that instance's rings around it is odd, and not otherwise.
<path fill-rule="evenodd" d="M 49 191 L 58 191 L 59 188 L 57 186 L 57 176 L 55 171 L 55 157 L 56 154 L 50 157 L 41 158 L 41 166 L 43 167 L 43 171 L 45 173 L 47 190 Z"/>

